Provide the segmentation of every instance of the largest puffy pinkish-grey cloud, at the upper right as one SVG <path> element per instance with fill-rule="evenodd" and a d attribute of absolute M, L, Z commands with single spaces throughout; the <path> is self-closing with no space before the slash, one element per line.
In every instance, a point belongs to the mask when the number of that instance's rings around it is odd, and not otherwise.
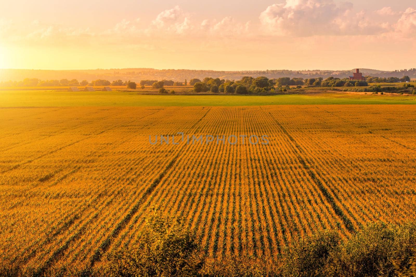
<path fill-rule="evenodd" d="M 394 15 L 390 7 L 377 11 Z M 351 2 L 333 0 L 286 0 L 260 14 L 260 22 L 277 36 L 370 35 L 388 32 L 389 22 L 365 11 L 354 10 Z"/>

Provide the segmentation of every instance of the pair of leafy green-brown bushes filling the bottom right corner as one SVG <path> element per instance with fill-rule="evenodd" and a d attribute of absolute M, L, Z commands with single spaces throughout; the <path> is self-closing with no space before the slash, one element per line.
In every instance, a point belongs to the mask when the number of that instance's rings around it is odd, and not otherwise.
<path fill-rule="evenodd" d="M 283 276 L 396 276 L 415 255 L 416 226 L 371 224 L 342 242 L 336 231 L 305 238 L 284 254 Z"/>

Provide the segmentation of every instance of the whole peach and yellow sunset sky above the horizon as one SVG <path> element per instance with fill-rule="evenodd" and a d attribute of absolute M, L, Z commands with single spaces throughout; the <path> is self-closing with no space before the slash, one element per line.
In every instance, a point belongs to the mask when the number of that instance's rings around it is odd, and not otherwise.
<path fill-rule="evenodd" d="M 414 0 L 2 0 L 0 9 L 2 69 L 416 67 Z"/>

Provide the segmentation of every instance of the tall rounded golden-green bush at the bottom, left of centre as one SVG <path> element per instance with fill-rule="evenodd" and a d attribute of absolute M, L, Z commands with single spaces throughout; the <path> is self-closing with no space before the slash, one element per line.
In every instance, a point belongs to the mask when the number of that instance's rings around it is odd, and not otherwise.
<path fill-rule="evenodd" d="M 152 216 L 137 244 L 109 253 L 106 276 L 195 276 L 203 263 L 195 235 L 180 221 Z"/>

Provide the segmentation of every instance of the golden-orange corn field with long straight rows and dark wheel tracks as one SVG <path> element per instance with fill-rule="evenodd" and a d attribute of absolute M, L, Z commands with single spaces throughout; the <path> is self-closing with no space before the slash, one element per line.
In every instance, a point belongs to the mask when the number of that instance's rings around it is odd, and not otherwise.
<path fill-rule="evenodd" d="M 134 107 L 128 97 L 136 95 L 121 92 L 101 104 L 87 93 L 11 93 L 0 96 L 5 269 L 71 275 L 102 267 L 109 253 L 140 239 L 154 209 L 182 218 L 218 260 L 273 260 L 317 230 L 349 238 L 370 222 L 416 218 L 416 106 L 366 102 L 416 97 L 180 96 L 168 105 L 176 96 L 140 96 Z M 77 106 L 85 95 L 90 102 Z M 215 105 L 220 97 L 228 104 Z M 267 135 L 270 143 L 149 143 L 149 135 L 178 132 Z"/>

